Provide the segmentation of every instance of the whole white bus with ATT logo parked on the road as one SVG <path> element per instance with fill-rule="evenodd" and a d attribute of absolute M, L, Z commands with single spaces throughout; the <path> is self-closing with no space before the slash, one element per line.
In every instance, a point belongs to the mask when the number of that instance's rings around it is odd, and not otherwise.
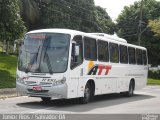
<path fill-rule="evenodd" d="M 16 87 L 20 95 L 51 99 L 132 96 L 146 86 L 147 50 L 122 38 L 69 29 L 28 32 L 21 45 Z"/>

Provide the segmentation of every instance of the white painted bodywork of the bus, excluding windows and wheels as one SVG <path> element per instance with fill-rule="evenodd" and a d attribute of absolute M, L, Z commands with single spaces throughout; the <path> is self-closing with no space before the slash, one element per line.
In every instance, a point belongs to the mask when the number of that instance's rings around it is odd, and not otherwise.
<path fill-rule="evenodd" d="M 146 50 L 144 47 L 128 44 L 125 40 L 120 41 L 122 40 L 121 38 L 113 37 L 112 39 L 111 36 L 102 37 L 68 29 L 42 29 L 31 31 L 27 34 L 32 33 L 69 34 L 71 38 L 68 54 L 68 66 L 65 72 L 53 74 L 33 72 L 25 73 L 24 71 L 17 69 L 17 92 L 21 95 L 52 97 L 53 99 L 83 97 L 84 88 L 88 80 L 93 80 L 95 83 L 95 95 L 128 91 L 131 79 L 135 80 L 135 89 L 141 89 L 146 86 L 148 72 L 147 65 L 132 65 L 129 63 L 121 64 L 120 62 L 111 63 L 110 61 L 100 62 L 98 60 L 92 61 L 83 59 L 83 63 L 79 66 L 74 69 L 71 69 L 70 67 L 72 53 L 71 41 L 76 35 Z M 97 67 L 93 68 L 94 66 Z M 93 71 L 91 71 L 91 69 Z M 91 74 L 88 74 L 90 71 Z M 41 87 L 39 88 L 37 86 Z M 36 91 L 36 89 L 38 89 L 38 91 Z"/>

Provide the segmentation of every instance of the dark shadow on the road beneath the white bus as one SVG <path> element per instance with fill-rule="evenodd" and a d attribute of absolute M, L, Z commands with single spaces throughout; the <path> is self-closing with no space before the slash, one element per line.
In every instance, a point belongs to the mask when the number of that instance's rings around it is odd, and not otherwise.
<path fill-rule="evenodd" d="M 122 97 L 120 94 L 107 94 L 96 96 L 93 102 L 88 104 L 79 104 L 77 99 L 70 100 L 52 100 L 49 103 L 44 103 L 42 101 L 33 101 L 26 103 L 18 103 L 17 105 L 24 108 L 30 109 L 46 109 L 56 110 L 56 111 L 66 111 L 66 112 L 87 112 L 97 108 L 104 108 L 109 106 L 120 105 L 129 102 L 135 102 L 145 99 L 151 99 L 154 96 L 135 94 L 133 97 Z"/>

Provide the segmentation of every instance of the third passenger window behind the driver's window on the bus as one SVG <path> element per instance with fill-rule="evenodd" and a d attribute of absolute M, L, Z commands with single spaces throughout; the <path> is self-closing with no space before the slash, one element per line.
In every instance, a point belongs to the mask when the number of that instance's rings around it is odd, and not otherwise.
<path fill-rule="evenodd" d="M 118 44 L 109 43 L 110 62 L 119 63 L 119 49 Z"/>

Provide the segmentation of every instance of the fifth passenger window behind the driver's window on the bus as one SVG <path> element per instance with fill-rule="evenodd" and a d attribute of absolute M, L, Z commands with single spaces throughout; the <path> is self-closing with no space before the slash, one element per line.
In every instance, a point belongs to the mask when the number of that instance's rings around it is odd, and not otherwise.
<path fill-rule="evenodd" d="M 128 54 L 129 54 L 129 64 L 135 64 L 135 49 L 132 47 L 128 47 Z"/>

